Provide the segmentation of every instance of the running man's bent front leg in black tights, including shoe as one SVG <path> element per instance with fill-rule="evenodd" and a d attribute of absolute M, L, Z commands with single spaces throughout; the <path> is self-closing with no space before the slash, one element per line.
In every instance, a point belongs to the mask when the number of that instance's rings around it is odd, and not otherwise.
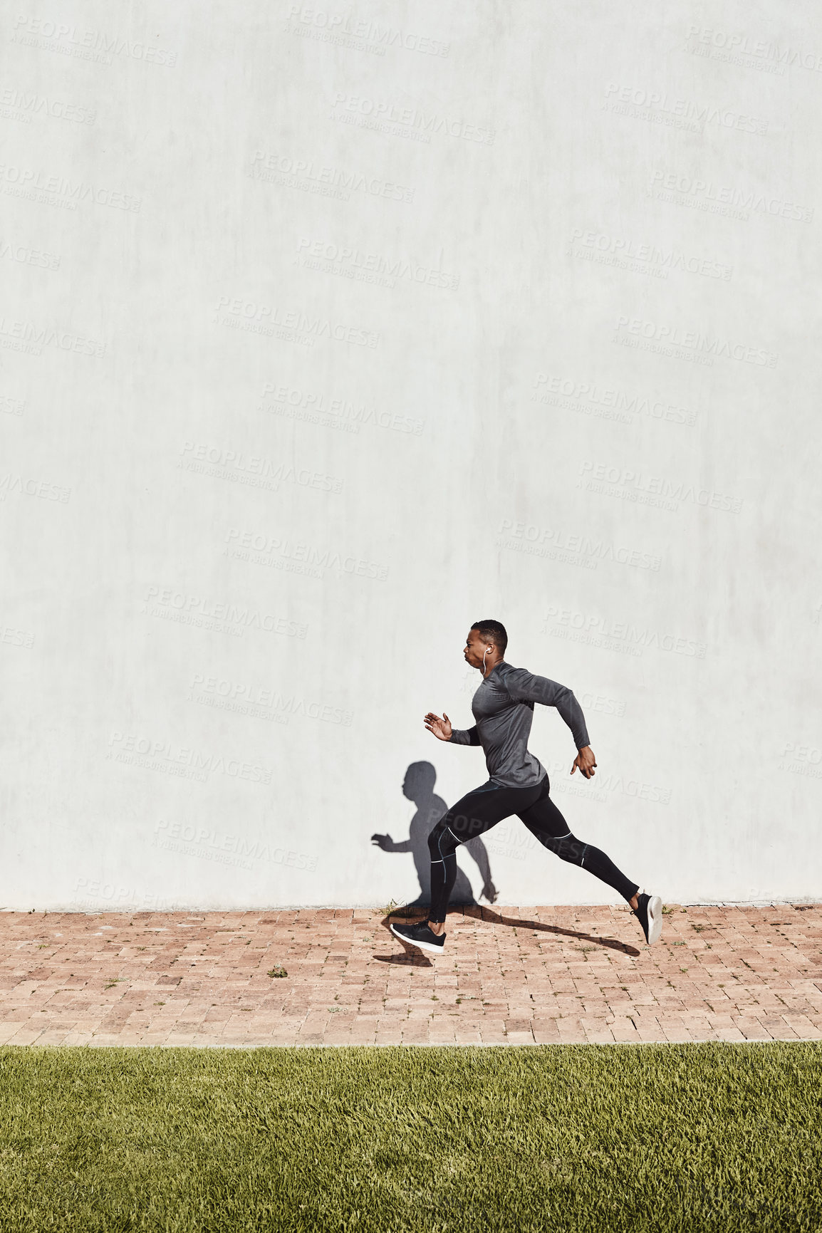
<path fill-rule="evenodd" d="M 392 925 L 392 932 L 424 951 L 441 951 L 445 942 L 445 912 L 457 875 L 457 847 L 466 840 L 483 835 L 504 817 L 527 809 L 537 799 L 540 790 L 541 784 L 534 788 L 505 788 L 489 779 L 457 800 L 428 837 L 431 853 L 431 907 L 428 924 Z"/>

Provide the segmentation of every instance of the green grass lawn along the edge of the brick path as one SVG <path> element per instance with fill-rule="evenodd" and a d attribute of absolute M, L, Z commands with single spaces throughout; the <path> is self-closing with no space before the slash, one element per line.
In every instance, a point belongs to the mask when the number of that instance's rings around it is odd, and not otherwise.
<path fill-rule="evenodd" d="M 0 1229 L 822 1228 L 822 1042 L 0 1049 Z"/>

